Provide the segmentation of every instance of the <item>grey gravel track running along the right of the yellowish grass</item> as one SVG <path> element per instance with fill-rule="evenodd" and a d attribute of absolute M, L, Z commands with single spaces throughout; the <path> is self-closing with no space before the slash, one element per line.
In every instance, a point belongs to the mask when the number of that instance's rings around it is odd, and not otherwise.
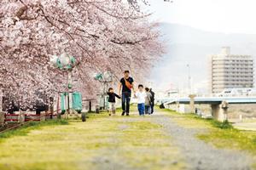
<path fill-rule="evenodd" d="M 200 130 L 181 127 L 172 121 L 170 116 L 165 116 L 165 113 L 158 113 L 149 120 L 162 125 L 166 133 L 172 136 L 172 143 L 177 144 L 182 150 L 189 169 L 251 169 L 252 160 L 245 153 L 236 150 L 217 149 L 211 144 L 206 144 L 195 137 L 195 134 L 200 133 Z"/>

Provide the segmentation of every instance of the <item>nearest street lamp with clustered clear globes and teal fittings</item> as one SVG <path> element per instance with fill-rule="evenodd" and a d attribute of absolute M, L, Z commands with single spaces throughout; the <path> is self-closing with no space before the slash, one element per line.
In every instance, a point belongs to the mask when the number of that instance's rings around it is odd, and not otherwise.
<path fill-rule="evenodd" d="M 61 71 L 67 71 L 67 113 L 69 114 L 69 94 L 72 88 L 72 71 L 76 65 L 76 59 L 72 55 L 63 53 L 60 56 L 52 55 L 49 60 L 55 68 L 61 69 Z"/>

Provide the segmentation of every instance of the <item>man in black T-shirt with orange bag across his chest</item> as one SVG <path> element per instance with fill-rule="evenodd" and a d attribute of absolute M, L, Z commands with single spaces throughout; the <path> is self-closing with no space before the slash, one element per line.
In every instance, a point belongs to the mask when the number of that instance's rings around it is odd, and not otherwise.
<path fill-rule="evenodd" d="M 122 116 L 125 115 L 129 116 L 129 111 L 130 111 L 130 100 L 131 100 L 131 88 L 134 91 L 133 88 L 133 78 L 129 77 L 130 72 L 125 71 L 124 72 L 124 77 L 121 78 L 119 82 L 119 95 L 121 94 L 121 89 L 122 89 Z"/>

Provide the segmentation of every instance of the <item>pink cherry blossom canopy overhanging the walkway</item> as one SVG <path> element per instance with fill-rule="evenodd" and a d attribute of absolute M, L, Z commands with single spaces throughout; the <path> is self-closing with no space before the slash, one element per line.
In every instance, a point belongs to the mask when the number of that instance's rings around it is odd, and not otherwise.
<path fill-rule="evenodd" d="M 143 77 L 163 53 L 157 24 L 136 0 L 0 1 L 0 82 L 6 95 L 26 108 L 67 90 L 67 72 L 49 64 L 64 52 L 77 60 L 74 90 L 95 95 L 93 75 L 125 69 Z M 46 102 L 43 101 L 42 102 Z"/>

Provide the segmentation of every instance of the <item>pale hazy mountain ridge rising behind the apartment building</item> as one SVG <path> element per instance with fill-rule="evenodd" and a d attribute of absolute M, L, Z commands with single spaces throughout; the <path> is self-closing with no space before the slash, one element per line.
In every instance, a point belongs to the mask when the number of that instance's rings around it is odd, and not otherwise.
<path fill-rule="evenodd" d="M 202 31 L 191 26 L 160 23 L 161 40 L 166 42 L 166 54 L 156 63 L 151 82 L 159 88 L 188 88 L 188 77 L 193 78 L 195 88 L 209 80 L 208 56 L 219 54 L 223 46 L 231 48 L 231 54 L 256 56 L 256 34 Z"/>

